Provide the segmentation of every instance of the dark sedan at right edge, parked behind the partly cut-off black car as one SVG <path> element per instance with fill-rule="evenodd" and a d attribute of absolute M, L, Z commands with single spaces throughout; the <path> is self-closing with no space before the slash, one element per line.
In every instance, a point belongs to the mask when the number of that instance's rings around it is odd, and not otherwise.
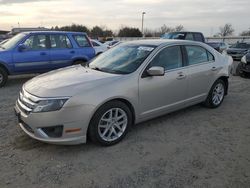
<path fill-rule="evenodd" d="M 236 61 L 240 61 L 241 58 L 250 51 L 250 43 L 238 42 L 230 46 L 227 50 L 227 54 L 232 56 Z"/>

